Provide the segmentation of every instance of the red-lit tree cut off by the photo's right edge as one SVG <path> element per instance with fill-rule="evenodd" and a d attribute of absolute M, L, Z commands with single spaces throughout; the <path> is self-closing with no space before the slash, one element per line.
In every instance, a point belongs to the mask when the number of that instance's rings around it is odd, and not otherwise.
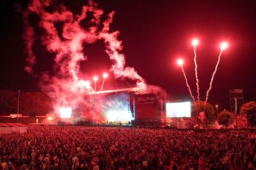
<path fill-rule="evenodd" d="M 247 122 L 249 126 L 256 125 L 256 102 L 250 101 L 242 105 L 240 109 L 240 114 L 245 114 L 247 117 Z"/>

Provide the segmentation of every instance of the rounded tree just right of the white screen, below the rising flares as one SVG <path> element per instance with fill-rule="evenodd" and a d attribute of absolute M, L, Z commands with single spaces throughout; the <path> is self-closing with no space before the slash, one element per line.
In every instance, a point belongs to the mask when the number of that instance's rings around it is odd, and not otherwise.
<path fill-rule="evenodd" d="M 192 104 L 191 114 L 197 121 L 201 119 L 201 122 L 213 122 L 217 117 L 213 106 L 204 101 L 195 101 L 195 103 Z"/>

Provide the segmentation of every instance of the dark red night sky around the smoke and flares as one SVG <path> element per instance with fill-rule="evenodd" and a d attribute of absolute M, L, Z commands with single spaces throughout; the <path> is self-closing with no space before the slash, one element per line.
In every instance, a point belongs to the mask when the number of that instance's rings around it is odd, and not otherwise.
<path fill-rule="evenodd" d="M 78 13 L 87 1 L 61 2 L 70 11 Z M 183 56 L 184 70 L 196 96 L 191 40 L 197 37 L 200 40 L 197 47 L 198 77 L 204 100 L 220 53 L 220 42 L 226 40 L 229 48 L 221 57 L 209 101 L 229 109 L 229 90 L 235 88 L 244 89 L 245 101 L 256 100 L 256 1 L 96 2 L 105 14 L 116 12 L 111 29 L 121 32 L 119 40 L 123 42 L 126 66 L 134 67 L 149 84 L 159 85 L 176 99 L 190 100 L 181 68 L 176 64 L 176 59 Z M 23 71 L 26 57 L 23 53 L 23 21 L 22 15 L 14 11 L 17 3 L 22 9 L 27 5 L 27 1 L 13 0 L 3 0 L 0 5 L 0 89 L 36 91 L 37 80 Z M 88 61 L 81 63 L 81 70 L 87 76 L 110 68 L 111 62 L 102 42 L 84 49 Z M 47 55 L 40 50 L 40 46 L 35 48 L 35 54 Z M 44 62 L 41 58 L 40 63 Z"/>

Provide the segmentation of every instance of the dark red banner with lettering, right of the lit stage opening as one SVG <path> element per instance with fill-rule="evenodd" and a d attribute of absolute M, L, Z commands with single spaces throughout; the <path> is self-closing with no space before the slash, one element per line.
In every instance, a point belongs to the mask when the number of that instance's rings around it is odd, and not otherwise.
<path fill-rule="evenodd" d="M 135 119 L 160 119 L 160 100 L 155 93 L 135 96 Z"/>

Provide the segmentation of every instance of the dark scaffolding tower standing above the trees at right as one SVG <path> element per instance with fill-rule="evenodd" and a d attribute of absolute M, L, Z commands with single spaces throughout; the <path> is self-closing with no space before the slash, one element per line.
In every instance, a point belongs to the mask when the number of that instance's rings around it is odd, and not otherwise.
<path fill-rule="evenodd" d="M 233 113 L 239 113 L 242 104 L 244 104 L 244 92 L 242 89 L 229 90 L 230 109 Z"/>

